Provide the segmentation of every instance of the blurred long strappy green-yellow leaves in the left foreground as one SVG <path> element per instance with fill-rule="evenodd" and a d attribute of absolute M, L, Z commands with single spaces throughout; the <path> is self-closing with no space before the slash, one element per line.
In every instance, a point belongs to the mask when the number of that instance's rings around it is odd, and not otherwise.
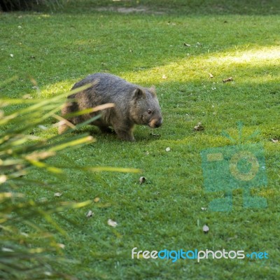
<path fill-rule="evenodd" d="M 53 220 L 52 214 L 67 208 L 84 207 L 91 203 L 33 201 L 18 193 L 18 186 L 45 186 L 45 182 L 27 179 L 26 175 L 34 168 L 45 169 L 47 172 L 63 178 L 65 165 L 48 165 L 45 160 L 57 155 L 66 148 L 75 148 L 92 143 L 94 139 L 88 134 L 72 137 L 55 135 L 44 138 L 29 134 L 38 126 L 52 129 L 49 118 L 63 121 L 57 116 L 65 98 L 69 94 L 61 94 L 48 100 L 33 99 L 0 99 L 0 279 L 48 279 L 66 278 L 53 267 L 65 262 L 61 257 L 62 244 L 57 244 L 49 230 L 37 225 L 34 218 L 44 218 L 52 225 L 55 232 L 65 234 L 64 230 Z M 6 106 L 23 104 L 22 109 L 3 113 Z M 108 108 L 113 104 L 105 104 L 91 111 Z M 9 108 L 9 111 L 11 109 Z M 89 113 L 89 111 L 80 112 Z M 76 113 L 78 114 L 78 113 Z M 94 118 L 98 118 L 94 117 Z M 90 120 L 92 121 L 92 120 Z M 90 123 L 90 122 L 87 122 Z M 76 130 L 72 126 L 69 133 Z M 70 134 L 71 135 L 71 134 Z M 69 167 L 67 167 L 69 168 Z M 78 167 L 84 172 L 113 171 L 136 172 L 135 169 L 118 169 L 109 167 Z M 26 230 L 23 230 L 26 229 Z M 54 257 L 55 255 L 55 257 Z"/>

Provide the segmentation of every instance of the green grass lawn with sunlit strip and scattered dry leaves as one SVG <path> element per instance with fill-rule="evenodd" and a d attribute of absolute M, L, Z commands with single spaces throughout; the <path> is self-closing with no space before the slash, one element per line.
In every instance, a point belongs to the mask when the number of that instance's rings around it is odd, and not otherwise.
<path fill-rule="evenodd" d="M 100 197 L 87 209 L 64 213 L 75 226 L 57 218 L 69 234 L 57 235 L 65 255 L 80 260 L 66 272 L 78 279 L 278 279 L 280 146 L 271 141 L 280 139 L 278 1 L 138 2 L 147 5 L 146 12 L 97 10 L 137 7 L 137 1 L 83 1 L 78 12 L 77 3 L 70 3 L 57 13 L 0 14 L 1 80 L 18 76 L 1 85 L 1 97 L 50 98 L 89 73 L 107 71 L 155 85 L 164 116 L 162 128 L 153 131 L 160 137 L 137 127 L 137 142 L 124 143 L 85 127 L 76 133 L 90 130 L 94 144 L 49 160 L 53 165 L 133 167 L 140 174 L 85 176 L 69 170 L 69 180 L 59 183 L 38 170 L 30 177 L 52 180 L 53 192 L 29 186 L 22 192 L 49 200 L 57 192 L 64 200 Z M 222 82 L 230 76 L 233 82 Z M 231 145 L 222 132 L 237 139 L 238 121 L 245 137 L 260 130 L 248 143 L 264 145 L 268 183 L 253 192 L 265 197 L 268 207 L 244 209 L 241 190 L 235 190 L 233 211 L 202 211 L 223 193 L 205 191 L 200 152 Z M 205 130 L 193 131 L 199 122 Z M 34 133 L 46 132 L 38 128 Z M 140 176 L 147 183 L 139 185 Z M 86 218 L 90 209 L 94 216 Z M 116 228 L 107 225 L 109 218 L 118 222 Z M 210 228 L 207 235 L 204 224 Z M 132 260 L 134 247 L 267 251 L 269 259 Z"/>

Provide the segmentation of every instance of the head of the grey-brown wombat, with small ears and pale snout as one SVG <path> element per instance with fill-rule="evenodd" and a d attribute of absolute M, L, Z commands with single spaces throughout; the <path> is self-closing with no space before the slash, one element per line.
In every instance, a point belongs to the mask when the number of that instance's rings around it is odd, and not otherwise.
<path fill-rule="evenodd" d="M 162 125 L 162 113 L 158 103 L 155 87 L 137 88 L 133 92 L 130 114 L 137 125 L 148 125 L 155 128 Z"/>

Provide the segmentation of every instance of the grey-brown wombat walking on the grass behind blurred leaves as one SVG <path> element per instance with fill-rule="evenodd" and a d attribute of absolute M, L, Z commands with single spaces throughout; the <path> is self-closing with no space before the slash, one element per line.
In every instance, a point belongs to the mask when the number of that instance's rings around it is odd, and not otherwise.
<path fill-rule="evenodd" d="M 113 103 L 113 108 L 104 109 L 101 117 L 94 120 L 91 125 L 97 125 L 102 132 L 110 132 L 113 127 L 121 140 L 134 141 L 134 125 L 148 125 L 155 128 L 162 125 L 162 113 L 155 93 L 155 87 L 141 87 L 128 83 L 126 80 L 109 73 L 94 73 L 73 85 L 72 90 L 83 85 L 91 84 L 86 90 L 70 95 L 74 99 L 65 104 L 62 116 L 95 106 Z M 68 121 L 77 125 L 89 120 L 98 112 L 69 118 Z M 68 125 L 59 126 L 62 134 Z"/>

